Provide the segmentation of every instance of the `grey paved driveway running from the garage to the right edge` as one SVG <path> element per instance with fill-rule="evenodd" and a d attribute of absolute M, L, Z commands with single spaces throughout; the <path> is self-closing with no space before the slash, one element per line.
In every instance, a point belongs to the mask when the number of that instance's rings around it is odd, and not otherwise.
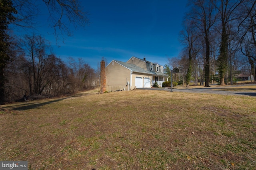
<path fill-rule="evenodd" d="M 252 90 L 248 88 L 242 88 L 242 86 L 252 86 Z M 239 88 L 235 88 L 239 87 Z M 232 88 L 228 90 L 228 88 Z M 139 88 L 147 90 L 166 90 L 171 91 L 170 88 Z M 254 90 L 253 90 L 254 89 Z M 256 84 L 246 84 L 246 85 L 230 85 L 230 86 L 216 86 L 213 85 L 208 88 L 184 88 L 184 89 L 172 89 L 172 92 L 188 92 L 188 93 L 212 93 L 212 94 L 222 94 L 222 95 L 244 95 L 244 96 L 255 96 L 256 97 Z"/>

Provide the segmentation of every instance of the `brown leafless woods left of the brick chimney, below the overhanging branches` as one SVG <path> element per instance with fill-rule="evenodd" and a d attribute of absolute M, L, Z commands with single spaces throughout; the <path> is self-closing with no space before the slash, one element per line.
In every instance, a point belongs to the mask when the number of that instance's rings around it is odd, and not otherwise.
<path fill-rule="evenodd" d="M 5 68 L 6 101 L 20 99 L 25 94 L 61 96 L 98 84 L 96 71 L 89 64 L 83 59 L 62 61 L 40 35 L 25 35 L 10 46 L 8 55 L 11 62 Z"/>

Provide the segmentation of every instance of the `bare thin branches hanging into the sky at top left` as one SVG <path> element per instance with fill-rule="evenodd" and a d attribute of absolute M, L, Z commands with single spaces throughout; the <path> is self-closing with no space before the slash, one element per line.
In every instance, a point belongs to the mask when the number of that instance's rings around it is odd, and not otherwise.
<path fill-rule="evenodd" d="M 56 39 L 72 36 L 72 28 L 82 27 L 89 23 L 88 13 L 78 0 L 12 0 L 16 10 L 13 25 L 23 29 L 36 25 L 36 18 L 42 12 L 43 5 L 48 9 L 49 27 L 53 28 Z M 43 8 L 44 9 L 44 8 Z"/>

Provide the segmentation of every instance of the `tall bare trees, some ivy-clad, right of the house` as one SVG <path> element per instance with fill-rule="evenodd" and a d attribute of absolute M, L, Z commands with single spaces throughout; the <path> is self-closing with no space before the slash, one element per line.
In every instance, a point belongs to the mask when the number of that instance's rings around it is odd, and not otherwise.
<path fill-rule="evenodd" d="M 233 83 L 238 73 L 256 75 L 256 1 L 189 0 L 180 41 L 185 46 L 166 68 L 179 67 L 186 85 Z M 168 70 L 168 69 L 167 69 Z M 182 75 L 183 74 L 183 75 Z"/>

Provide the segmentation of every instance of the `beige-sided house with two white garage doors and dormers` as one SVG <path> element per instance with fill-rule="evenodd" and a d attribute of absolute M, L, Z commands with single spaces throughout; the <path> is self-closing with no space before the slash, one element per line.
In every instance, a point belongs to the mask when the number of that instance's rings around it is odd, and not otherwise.
<path fill-rule="evenodd" d="M 151 88 L 152 84 L 168 80 L 163 66 L 153 64 L 146 59 L 131 57 L 126 63 L 112 60 L 105 68 L 106 90 L 133 90 L 134 88 Z"/>

